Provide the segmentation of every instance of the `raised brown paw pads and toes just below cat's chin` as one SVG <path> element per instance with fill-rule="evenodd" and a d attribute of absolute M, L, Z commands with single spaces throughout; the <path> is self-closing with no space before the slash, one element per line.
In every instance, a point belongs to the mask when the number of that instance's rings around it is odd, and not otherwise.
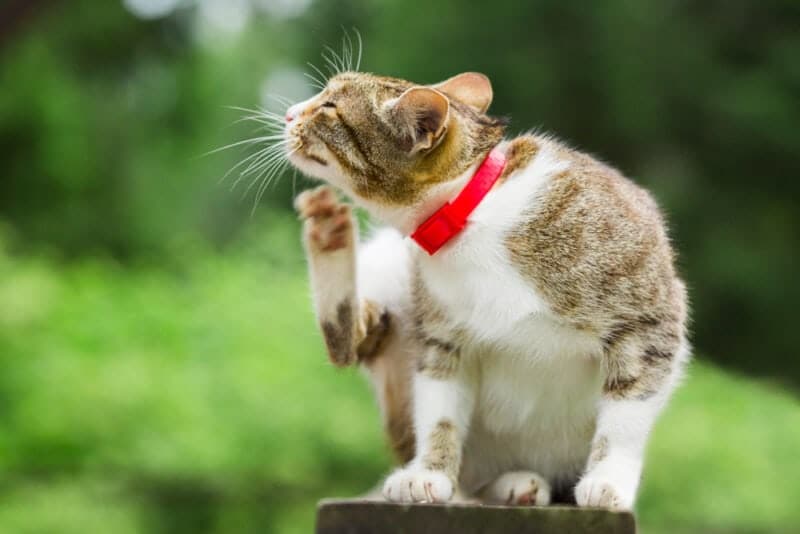
<path fill-rule="evenodd" d="M 305 220 L 305 238 L 312 249 L 333 252 L 353 245 L 353 215 L 328 186 L 303 191 L 294 202 Z"/>

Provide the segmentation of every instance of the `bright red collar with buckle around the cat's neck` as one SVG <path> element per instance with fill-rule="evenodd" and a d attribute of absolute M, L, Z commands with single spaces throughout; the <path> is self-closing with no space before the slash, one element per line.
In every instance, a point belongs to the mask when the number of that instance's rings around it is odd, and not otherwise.
<path fill-rule="evenodd" d="M 506 168 L 506 156 L 493 148 L 470 181 L 452 202 L 436 210 L 411 234 L 411 239 L 433 256 L 445 243 L 453 239 L 467 224 L 483 197 L 492 189 Z"/>

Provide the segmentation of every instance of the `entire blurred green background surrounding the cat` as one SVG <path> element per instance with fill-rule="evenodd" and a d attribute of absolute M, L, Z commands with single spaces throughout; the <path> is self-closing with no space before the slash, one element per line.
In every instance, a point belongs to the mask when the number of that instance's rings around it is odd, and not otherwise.
<path fill-rule="evenodd" d="M 800 525 L 800 4 L 794 0 L 4 0 L 0 532 L 309 532 L 391 465 L 328 363 L 288 173 L 220 181 L 229 106 L 365 70 L 492 80 L 656 194 L 697 360 L 654 433 L 644 532 Z M 235 176 L 234 176 L 235 178 Z"/>

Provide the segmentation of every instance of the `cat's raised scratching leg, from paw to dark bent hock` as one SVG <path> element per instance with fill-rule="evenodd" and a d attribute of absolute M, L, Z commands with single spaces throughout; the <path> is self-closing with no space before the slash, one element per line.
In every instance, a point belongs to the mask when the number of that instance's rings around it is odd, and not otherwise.
<path fill-rule="evenodd" d="M 301 193 L 295 208 L 304 220 L 314 309 L 328 355 L 336 365 L 368 358 L 385 338 L 389 316 L 378 304 L 359 299 L 358 233 L 350 207 L 339 203 L 331 188 L 321 186 Z"/>

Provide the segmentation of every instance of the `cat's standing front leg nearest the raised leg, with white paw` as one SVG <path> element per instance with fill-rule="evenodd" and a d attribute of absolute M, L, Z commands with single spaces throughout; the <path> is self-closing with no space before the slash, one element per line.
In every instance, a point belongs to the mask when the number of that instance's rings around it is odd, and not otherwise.
<path fill-rule="evenodd" d="M 475 404 L 459 349 L 434 338 L 414 377 L 414 459 L 392 473 L 383 495 L 394 502 L 446 502 L 457 488 L 461 455 Z"/>

